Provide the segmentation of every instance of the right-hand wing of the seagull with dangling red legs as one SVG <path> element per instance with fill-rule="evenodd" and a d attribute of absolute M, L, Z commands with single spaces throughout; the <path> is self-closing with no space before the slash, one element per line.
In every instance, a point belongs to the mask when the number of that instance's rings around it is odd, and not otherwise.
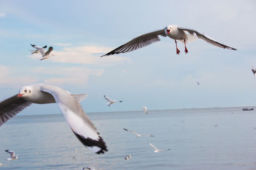
<path fill-rule="evenodd" d="M 200 32 L 198 31 L 195 31 L 193 29 L 186 29 L 186 28 L 182 28 L 182 27 L 178 27 L 179 30 L 182 30 L 182 31 L 188 31 L 189 34 L 191 35 L 194 35 L 196 34 L 196 36 L 200 39 L 203 39 L 204 41 L 206 41 L 207 43 L 210 43 L 212 45 L 215 45 L 215 46 L 218 46 L 220 48 L 228 48 L 230 50 L 237 50 L 236 48 L 232 48 L 230 46 L 227 46 L 227 45 L 224 45 L 224 44 L 221 44 L 219 43 L 218 41 L 212 39 L 211 37 L 205 35 L 205 34 L 201 34 Z"/>

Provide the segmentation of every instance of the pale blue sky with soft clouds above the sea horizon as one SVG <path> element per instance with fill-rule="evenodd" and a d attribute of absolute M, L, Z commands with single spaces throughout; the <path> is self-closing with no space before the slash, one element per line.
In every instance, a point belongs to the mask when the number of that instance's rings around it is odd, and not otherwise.
<path fill-rule="evenodd" d="M 0 100 L 20 87 L 46 83 L 88 94 L 86 112 L 255 106 L 255 1 L 0 1 Z M 195 29 L 237 51 L 202 39 L 161 41 L 100 57 L 166 25 Z M 53 46 L 51 58 L 30 44 Z M 196 81 L 200 82 L 197 85 Z M 122 100 L 107 106 L 104 95 Z M 26 114 L 60 113 L 33 104 Z"/>

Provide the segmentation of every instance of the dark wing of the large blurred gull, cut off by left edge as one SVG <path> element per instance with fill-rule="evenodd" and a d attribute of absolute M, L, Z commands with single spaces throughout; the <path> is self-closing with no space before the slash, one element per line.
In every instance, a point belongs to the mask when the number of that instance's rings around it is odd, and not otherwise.
<path fill-rule="evenodd" d="M 31 104 L 31 102 L 17 96 L 12 96 L 0 103 L 0 126 Z"/>

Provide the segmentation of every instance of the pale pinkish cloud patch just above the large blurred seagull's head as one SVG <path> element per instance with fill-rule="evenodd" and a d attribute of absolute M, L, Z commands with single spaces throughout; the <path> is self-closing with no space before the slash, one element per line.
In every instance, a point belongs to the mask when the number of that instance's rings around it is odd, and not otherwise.
<path fill-rule="evenodd" d="M 89 69 L 85 67 L 37 67 L 32 70 L 36 74 L 50 75 L 44 83 L 49 85 L 87 85 L 90 76 L 102 76 L 103 69 Z"/>

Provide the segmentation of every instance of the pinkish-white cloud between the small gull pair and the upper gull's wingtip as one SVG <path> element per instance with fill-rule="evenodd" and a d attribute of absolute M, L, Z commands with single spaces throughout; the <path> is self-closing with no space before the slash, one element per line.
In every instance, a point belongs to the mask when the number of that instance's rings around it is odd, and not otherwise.
<path fill-rule="evenodd" d="M 118 57 L 111 55 L 108 57 L 100 57 L 103 53 L 107 53 L 113 48 L 104 46 L 78 46 L 72 48 L 63 48 L 62 51 L 52 51 L 53 57 L 49 58 L 52 62 L 68 62 L 79 64 L 90 64 L 97 66 L 112 66 L 123 62 L 131 62 L 128 57 Z M 33 59 L 40 58 L 40 54 L 31 55 Z"/>

